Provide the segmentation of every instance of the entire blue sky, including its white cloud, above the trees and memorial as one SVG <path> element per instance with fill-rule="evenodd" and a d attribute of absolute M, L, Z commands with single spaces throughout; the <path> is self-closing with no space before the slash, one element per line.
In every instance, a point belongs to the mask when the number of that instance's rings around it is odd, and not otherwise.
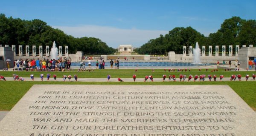
<path fill-rule="evenodd" d="M 40 19 L 74 37 L 140 47 L 175 27 L 208 36 L 225 19 L 256 19 L 256 0 L 1 0 L 0 13 Z"/>

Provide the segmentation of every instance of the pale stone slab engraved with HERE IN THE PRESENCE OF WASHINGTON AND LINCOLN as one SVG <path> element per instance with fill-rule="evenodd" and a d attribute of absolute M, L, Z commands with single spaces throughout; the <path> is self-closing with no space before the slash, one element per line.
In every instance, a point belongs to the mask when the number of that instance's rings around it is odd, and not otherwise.
<path fill-rule="evenodd" d="M 228 85 L 33 85 L 0 136 L 255 136 Z"/>

